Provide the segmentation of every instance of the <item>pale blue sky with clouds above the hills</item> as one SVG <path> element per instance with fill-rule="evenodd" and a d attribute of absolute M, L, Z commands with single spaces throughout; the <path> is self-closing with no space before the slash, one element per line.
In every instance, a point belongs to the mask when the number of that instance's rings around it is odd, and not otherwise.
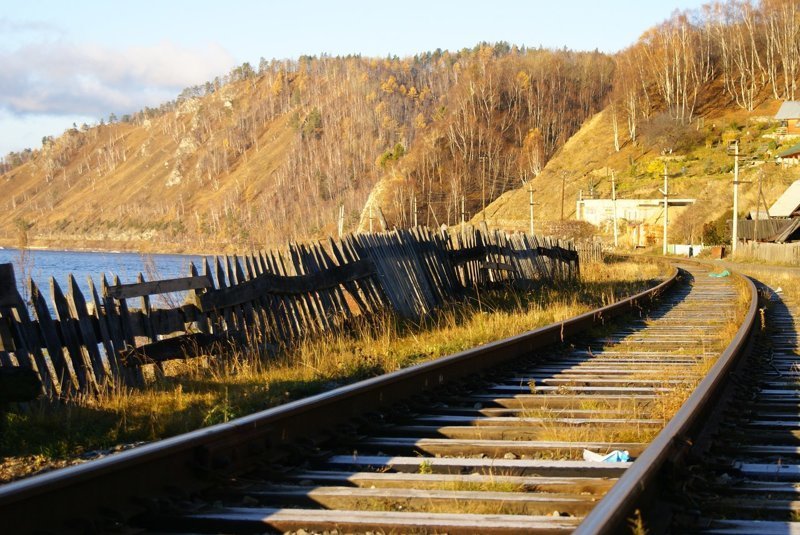
<path fill-rule="evenodd" d="M 615 52 L 702 0 L 0 0 L 0 157 L 260 58 L 506 41 Z"/>

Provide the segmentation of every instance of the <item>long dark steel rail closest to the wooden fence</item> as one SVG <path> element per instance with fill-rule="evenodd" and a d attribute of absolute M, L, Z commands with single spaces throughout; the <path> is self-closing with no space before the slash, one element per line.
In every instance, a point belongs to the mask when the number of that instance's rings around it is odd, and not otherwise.
<path fill-rule="evenodd" d="M 641 310 L 678 278 L 611 305 L 434 361 L 160 440 L 86 464 L 0 486 L 0 518 L 10 533 L 59 529 L 67 519 L 123 517 L 141 511 L 168 487 L 207 488 L 216 472 L 235 473 L 265 454 L 285 453 L 356 417 L 401 399 L 559 343 L 595 325 Z M 43 514 L 43 512 L 47 514 Z"/>

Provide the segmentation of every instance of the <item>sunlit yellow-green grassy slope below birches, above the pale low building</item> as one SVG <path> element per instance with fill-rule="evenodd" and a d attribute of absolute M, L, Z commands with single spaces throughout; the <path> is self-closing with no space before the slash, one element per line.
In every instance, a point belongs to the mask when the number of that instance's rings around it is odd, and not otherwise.
<path fill-rule="evenodd" d="M 796 143 L 789 140 L 770 146 L 764 134 L 774 132 L 774 121 L 760 122 L 777 111 L 779 103 L 769 101 L 752 113 L 731 109 L 711 109 L 703 117 L 702 128 L 695 128 L 696 139 L 690 147 L 674 152 L 667 157 L 670 173 L 670 193 L 679 198 L 695 198 L 694 207 L 675 217 L 671 210 L 670 237 L 673 240 L 687 239 L 694 230 L 696 241 L 703 222 L 722 215 L 732 205 L 731 182 L 733 158 L 726 153 L 726 140 L 737 137 L 742 154 L 759 154 L 771 150 L 774 154 L 781 147 Z M 624 125 L 620 124 L 621 128 Z M 623 135 L 624 130 L 621 131 Z M 663 187 L 663 164 L 659 163 L 660 151 L 656 142 L 640 135 L 636 143 L 626 142 L 615 152 L 611 115 L 608 109 L 587 120 L 562 149 L 547 164 L 543 172 L 534 179 L 535 220 L 538 228 L 547 231 L 555 228 L 552 222 L 561 216 L 561 184 L 565 180 L 564 217 L 575 218 L 575 201 L 580 190 L 584 195 L 589 181 L 595 184 L 596 196 L 611 197 L 611 170 L 617 176 L 618 198 L 659 198 L 658 189 Z M 764 170 L 763 188 L 768 203 L 772 203 L 792 181 L 800 178 L 800 171 L 781 169 L 773 163 L 762 167 L 742 164 L 740 180 L 753 181 L 739 190 L 740 215 L 755 209 L 758 188 L 758 170 Z M 527 188 L 519 188 L 494 201 L 486 208 L 486 219 L 491 226 L 525 230 L 528 228 L 529 194 Z M 677 211 L 676 211 L 677 212 Z M 475 217 L 476 221 L 482 214 Z"/>

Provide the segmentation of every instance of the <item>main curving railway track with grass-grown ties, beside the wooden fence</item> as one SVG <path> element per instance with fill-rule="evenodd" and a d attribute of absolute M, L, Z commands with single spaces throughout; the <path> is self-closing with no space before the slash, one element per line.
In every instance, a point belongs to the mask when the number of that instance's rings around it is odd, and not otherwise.
<path fill-rule="evenodd" d="M 731 278 L 687 266 L 656 292 L 646 310 L 650 293 L 7 485 L 0 514 L 14 532 L 591 532 L 598 514 L 611 529 L 631 513 L 619 484 L 648 456 L 659 469 L 648 445 L 747 330 L 722 351 L 739 295 Z M 639 317 L 575 337 L 631 310 Z M 637 462 L 587 461 L 586 450 Z M 592 512 L 609 498 L 616 507 Z M 51 519 L 37 516 L 45 507 Z"/>

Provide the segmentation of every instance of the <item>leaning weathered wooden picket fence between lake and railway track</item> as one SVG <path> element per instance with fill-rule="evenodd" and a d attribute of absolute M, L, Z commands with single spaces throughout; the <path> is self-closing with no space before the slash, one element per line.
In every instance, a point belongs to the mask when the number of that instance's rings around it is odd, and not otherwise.
<path fill-rule="evenodd" d="M 66 292 L 51 278 L 51 307 L 32 280 L 24 302 L 12 265 L 0 264 L 0 376 L 26 368 L 48 396 L 91 394 L 113 381 L 140 385 L 142 364 L 228 344 L 270 348 L 385 310 L 419 318 L 467 288 L 578 275 L 571 242 L 421 227 L 215 257 L 176 279 L 103 276 L 98 288 L 90 277 L 87 295 L 71 275 Z M 183 304 L 151 303 L 174 292 Z"/>

